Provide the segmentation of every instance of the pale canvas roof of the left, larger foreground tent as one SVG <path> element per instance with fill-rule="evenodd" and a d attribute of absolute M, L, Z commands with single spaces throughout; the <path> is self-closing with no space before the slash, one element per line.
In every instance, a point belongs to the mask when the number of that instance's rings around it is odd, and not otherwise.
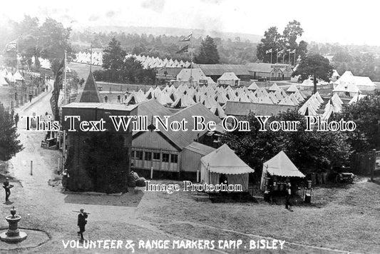
<path fill-rule="evenodd" d="M 207 156 L 203 156 L 200 162 L 205 165 L 210 172 L 214 173 L 236 175 L 255 172 L 226 144 L 207 154 Z"/>

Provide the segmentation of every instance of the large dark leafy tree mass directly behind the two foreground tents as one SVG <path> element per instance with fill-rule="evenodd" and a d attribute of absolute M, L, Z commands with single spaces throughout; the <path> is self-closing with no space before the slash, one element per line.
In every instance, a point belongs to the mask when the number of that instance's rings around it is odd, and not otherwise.
<path fill-rule="evenodd" d="M 332 166 L 346 162 L 351 154 L 351 146 L 345 133 L 304 131 L 306 119 L 297 110 L 279 113 L 267 121 L 299 121 L 297 131 L 260 131 L 260 123 L 255 115 L 242 117 L 250 123 L 250 131 L 232 131 L 222 136 L 243 161 L 255 168 L 261 176 L 262 163 L 284 151 L 301 171 L 328 170 Z"/>

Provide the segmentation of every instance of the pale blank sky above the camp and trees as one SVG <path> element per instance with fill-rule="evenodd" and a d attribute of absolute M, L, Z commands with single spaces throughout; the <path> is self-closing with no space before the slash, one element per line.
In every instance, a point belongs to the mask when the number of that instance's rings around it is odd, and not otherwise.
<path fill-rule="evenodd" d="M 160 26 L 263 35 L 270 26 L 282 32 L 295 19 L 305 41 L 380 46 L 380 3 L 369 0 L 17 0 L 1 6 L 1 26 L 26 14 L 40 21 L 49 16 L 73 29 Z"/>

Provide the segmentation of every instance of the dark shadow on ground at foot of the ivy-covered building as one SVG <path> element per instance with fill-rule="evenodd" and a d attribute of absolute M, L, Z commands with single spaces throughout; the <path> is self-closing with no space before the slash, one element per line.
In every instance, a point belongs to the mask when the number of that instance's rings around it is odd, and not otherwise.
<path fill-rule="evenodd" d="M 115 205 L 137 207 L 143 198 L 143 191 L 134 190 L 123 195 L 106 195 L 86 194 L 86 193 L 68 193 L 65 203 L 86 204 L 86 205 Z"/>

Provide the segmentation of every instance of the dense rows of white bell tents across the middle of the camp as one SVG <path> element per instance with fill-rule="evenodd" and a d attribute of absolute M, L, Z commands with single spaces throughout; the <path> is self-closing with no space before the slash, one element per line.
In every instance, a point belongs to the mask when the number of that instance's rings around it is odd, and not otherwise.
<path fill-rule="evenodd" d="M 146 93 L 140 89 L 125 96 L 127 98 L 124 103 L 127 104 L 140 103 L 150 98 L 155 98 L 164 106 L 171 106 L 173 108 L 185 108 L 195 103 L 202 103 L 220 118 L 225 117 L 224 110 L 227 101 L 297 106 L 305 98 L 296 86 L 291 86 L 287 91 L 284 91 L 276 83 L 268 90 L 259 88 L 256 83 L 252 83 L 249 87 L 245 86 L 235 89 L 230 86 L 223 88 L 216 85 L 195 87 L 180 85 L 178 88 L 175 88 L 175 86 L 165 86 L 162 90 L 160 87 L 151 87 Z"/>

